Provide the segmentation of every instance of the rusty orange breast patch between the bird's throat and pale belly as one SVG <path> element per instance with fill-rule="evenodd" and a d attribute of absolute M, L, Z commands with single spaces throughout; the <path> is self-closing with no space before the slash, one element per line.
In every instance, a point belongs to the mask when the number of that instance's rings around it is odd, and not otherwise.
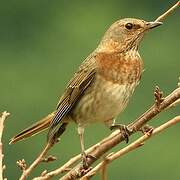
<path fill-rule="evenodd" d="M 132 84 L 140 79 L 143 63 L 138 52 L 98 53 L 98 72 L 106 80 L 119 84 Z"/>

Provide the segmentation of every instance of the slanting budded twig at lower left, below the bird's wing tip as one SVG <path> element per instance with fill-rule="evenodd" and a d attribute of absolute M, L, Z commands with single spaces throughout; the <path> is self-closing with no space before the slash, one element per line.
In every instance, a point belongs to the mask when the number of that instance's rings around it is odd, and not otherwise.
<path fill-rule="evenodd" d="M 20 180 L 26 180 L 28 175 L 33 171 L 33 169 L 38 166 L 39 163 L 41 163 L 44 160 L 44 157 L 46 156 L 49 149 L 53 146 L 53 143 L 48 142 L 44 148 L 44 150 L 40 153 L 40 155 L 36 158 L 36 160 L 26 169 L 22 168 L 23 173 L 20 177 Z M 19 161 L 18 161 L 19 162 Z M 21 165 L 20 165 L 21 167 Z"/>

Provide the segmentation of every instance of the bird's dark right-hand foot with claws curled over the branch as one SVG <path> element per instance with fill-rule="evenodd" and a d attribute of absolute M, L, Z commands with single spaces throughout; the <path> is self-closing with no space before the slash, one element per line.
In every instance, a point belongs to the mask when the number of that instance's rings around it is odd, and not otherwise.
<path fill-rule="evenodd" d="M 131 130 L 124 124 L 111 125 L 110 130 L 115 130 L 115 129 L 120 130 L 120 132 L 121 132 L 122 136 L 124 137 L 126 143 L 128 143 Z"/>

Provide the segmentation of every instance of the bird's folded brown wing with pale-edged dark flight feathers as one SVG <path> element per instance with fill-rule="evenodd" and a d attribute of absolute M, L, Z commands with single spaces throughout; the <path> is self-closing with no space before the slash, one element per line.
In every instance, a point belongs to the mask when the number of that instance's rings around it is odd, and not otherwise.
<path fill-rule="evenodd" d="M 57 105 L 57 112 L 51 122 L 48 139 L 51 139 L 59 129 L 60 121 L 69 113 L 81 94 L 91 84 L 96 74 L 96 63 L 93 56 L 89 56 L 75 73 L 67 85 L 63 96 Z"/>

